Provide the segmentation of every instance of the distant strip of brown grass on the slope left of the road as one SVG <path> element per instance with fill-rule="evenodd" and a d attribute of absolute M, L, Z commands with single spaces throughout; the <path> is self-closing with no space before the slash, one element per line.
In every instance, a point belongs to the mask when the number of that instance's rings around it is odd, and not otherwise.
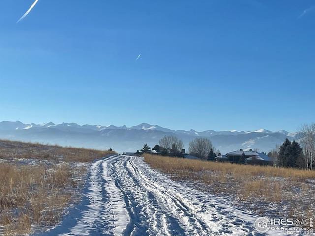
<path fill-rule="evenodd" d="M 66 162 L 90 162 L 115 152 L 0 140 L 0 158 L 40 158 Z"/>

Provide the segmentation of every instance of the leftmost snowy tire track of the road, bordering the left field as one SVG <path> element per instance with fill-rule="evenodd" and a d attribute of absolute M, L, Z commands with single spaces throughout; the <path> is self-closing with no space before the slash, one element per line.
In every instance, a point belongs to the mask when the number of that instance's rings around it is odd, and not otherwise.
<path fill-rule="evenodd" d="M 34 236 L 112 236 L 122 235 L 129 222 L 125 201 L 116 188 L 108 162 L 117 156 L 96 161 L 90 167 L 83 199 L 70 209 L 63 222 Z"/>

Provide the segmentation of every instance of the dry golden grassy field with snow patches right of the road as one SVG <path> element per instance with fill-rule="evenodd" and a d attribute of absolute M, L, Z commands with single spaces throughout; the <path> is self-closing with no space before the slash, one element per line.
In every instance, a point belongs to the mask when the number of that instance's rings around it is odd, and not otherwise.
<path fill-rule="evenodd" d="M 144 155 L 154 169 L 259 213 L 315 214 L 315 171 Z"/>

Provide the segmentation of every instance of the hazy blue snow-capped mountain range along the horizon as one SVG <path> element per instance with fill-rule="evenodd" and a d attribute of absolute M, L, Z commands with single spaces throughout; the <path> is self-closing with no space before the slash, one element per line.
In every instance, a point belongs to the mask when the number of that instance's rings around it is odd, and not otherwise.
<path fill-rule="evenodd" d="M 0 122 L 0 138 L 58 144 L 63 146 L 75 146 L 84 148 L 108 149 L 113 148 L 118 152 L 136 151 L 142 148 L 144 143 L 153 147 L 158 140 L 165 135 L 175 135 L 181 138 L 185 148 L 196 137 L 209 138 L 215 148 L 222 153 L 238 150 L 240 148 L 259 149 L 269 151 L 277 144 L 281 144 L 285 138 L 297 139 L 297 133 L 289 133 L 285 130 L 276 132 L 266 129 L 255 131 L 195 131 L 171 130 L 158 125 L 141 123 L 136 126 L 101 126 L 78 125 L 76 123 L 54 124 L 24 124 L 20 121 Z"/>

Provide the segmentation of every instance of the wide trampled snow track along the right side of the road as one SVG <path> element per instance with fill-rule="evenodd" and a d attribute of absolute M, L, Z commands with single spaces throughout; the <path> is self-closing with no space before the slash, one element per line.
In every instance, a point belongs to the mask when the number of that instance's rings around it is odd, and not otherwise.
<path fill-rule="evenodd" d="M 141 177 L 143 183 L 146 184 L 148 190 L 162 192 L 172 211 L 171 199 L 176 204 L 179 204 L 183 210 L 190 211 L 193 220 L 196 220 L 204 228 L 194 228 L 194 235 L 261 235 L 253 229 L 253 222 L 256 216 L 244 214 L 244 212 L 226 205 L 226 202 L 221 202 L 220 199 L 207 193 L 199 192 L 182 183 L 170 180 L 166 175 L 152 170 L 142 158 L 133 157 L 130 161 L 137 176 Z M 164 196 L 163 196 L 164 197 Z M 185 221 L 185 217 L 182 218 Z M 197 224 L 198 226 L 198 224 Z M 190 232 L 188 235 L 191 235 Z"/>

